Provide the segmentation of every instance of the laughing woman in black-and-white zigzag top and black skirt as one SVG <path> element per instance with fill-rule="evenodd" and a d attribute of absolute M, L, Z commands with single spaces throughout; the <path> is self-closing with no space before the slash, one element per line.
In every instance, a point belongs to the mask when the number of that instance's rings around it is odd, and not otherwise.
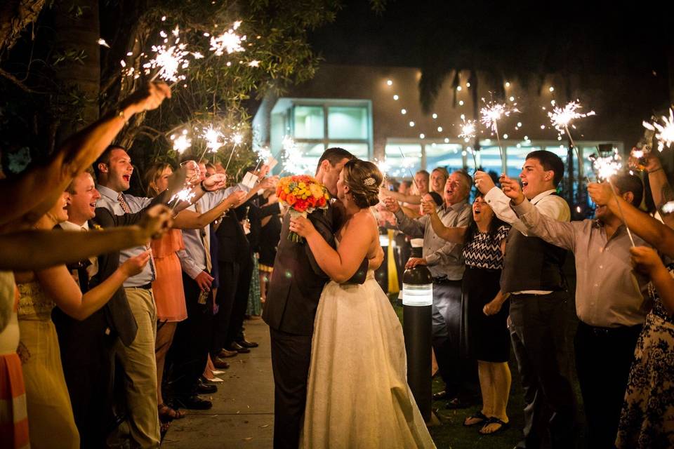
<path fill-rule="evenodd" d="M 462 286 L 461 346 L 477 358 L 482 409 L 467 417 L 464 426 L 482 425 L 480 434 L 494 434 L 508 428 L 505 412 L 510 394 L 510 338 L 508 337 L 508 295 L 498 281 L 503 268 L 505 237 L 510 227 L 499 220 L 479 194 L 473 202 L 473 222 L 468 227 L 445 227 L 435 203 L 423 201 L 433 230 L 442 239 L 463 244 L 465 272 Z"/>

